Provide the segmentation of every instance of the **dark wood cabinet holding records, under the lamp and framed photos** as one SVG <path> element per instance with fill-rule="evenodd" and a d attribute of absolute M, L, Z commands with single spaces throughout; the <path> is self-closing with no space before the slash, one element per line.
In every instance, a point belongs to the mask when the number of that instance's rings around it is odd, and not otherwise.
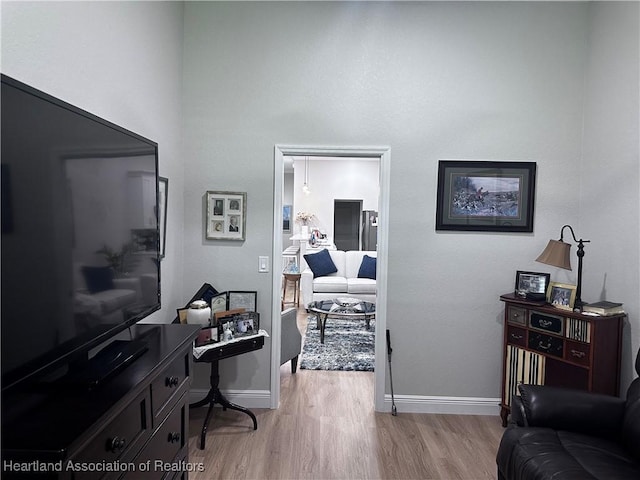
<path fill-rule="evenodd" d="M 503 426 L 519 383 L 619 394 L 625 314 L 583 315 L 512 293 L 500 300 L 505 303 Z"/>

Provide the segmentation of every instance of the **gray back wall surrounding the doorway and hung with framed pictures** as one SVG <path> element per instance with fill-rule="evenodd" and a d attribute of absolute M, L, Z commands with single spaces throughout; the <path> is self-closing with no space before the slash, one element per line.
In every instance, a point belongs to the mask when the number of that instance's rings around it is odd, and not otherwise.
<path fill-rule="evenodd" d="M 608 8 L 617 6 L 602 7 Z M 614 15 L 637 13 L 633 5 L 619 8 Z M 616 37 L 621 45 L 602 45 L 609 55 L 617 57 L 622 49 L 633 57 L 637 15 L 628 16 L 635 23 Z M 599 17 L 593 22 L 605 22 L 606 31 L 615 28 Z M 216 284 L 259 290 L 261 309 L 268 312 L 269 280 L 256 273 L 256 258 L 271 249 L 273 145 L 389 145 L 387 316 L 395 391 L 498 397 L 498 296 L 513 288 L 519 269 L 575 282 L 575 272 L 534 259 L 565 223 L 585 238 L 598 235 L 598 228 L 581 231 L 580 205 L 585 74 L 587 68 L 598 71 L 600 57 L 589 51 L 590 7 L 191 3 L 185 25 L 186 169 L 208 172 L 185 192 L 189 271 Z M 637 56 L 631 65 L 637 69 Z M 637 102 L 625 108 L 633 107 Z M 637 148 L 629 153 L 637 164 Z M 439 159 L 537 162 L 535 232 L 436 233 Z M 608 168 L 616 172 L 618 161 L 611 156 Z M 629 182 L 624 194 L 637 206 L 637 165 Z M 250 192 L 250 238 L 243 246 L 202 241 L 199 205 L 212 187 Z M 637 221 L 636 214 L 636 228 Z M 631 265 L 638 265 L 637 236 L 609 242 L 630 242 Z M 586 262 L 601 248 L 600 242 L 590 245 Z M 584 298 L 596 300 L 599 290 L 591 279 L 599 283 L 605 269 L 592 268 L 585 272 Z M 626 277 L 622 266 L 606 270 L 611 279 Z M 638 280 L 610 286 L 610 297 L 629 307 L 637 347 Z M 256 355 L 259 370 L 234 385 L 251 381 L 268 388 L 268 353 Z M 625 358 L 627 375 L 630 365 Z"/>

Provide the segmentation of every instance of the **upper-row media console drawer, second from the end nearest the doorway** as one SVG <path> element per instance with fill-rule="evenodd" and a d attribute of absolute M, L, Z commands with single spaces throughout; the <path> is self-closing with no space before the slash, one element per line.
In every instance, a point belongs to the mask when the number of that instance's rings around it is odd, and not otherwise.
<path fill-rule="evenodd" d="M 83 471 L 83 465 L 129 462 L 150 435 L 150 404 L 149 390 L 146 389 L 74 455 L 71 460 L 75 470 L 73 478 L 95 479 L 108 475 L 105 471 Z"/>

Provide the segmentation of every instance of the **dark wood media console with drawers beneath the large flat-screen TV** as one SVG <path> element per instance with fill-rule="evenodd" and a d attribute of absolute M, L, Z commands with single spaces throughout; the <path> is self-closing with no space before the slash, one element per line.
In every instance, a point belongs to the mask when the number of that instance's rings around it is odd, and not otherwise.
<path fill-rule="evenodd" d="M 2 478 L 186 478 L 192 325 L 136 325 L 148 349 L 98 387 L 31 384 L 2 398 Z"/>

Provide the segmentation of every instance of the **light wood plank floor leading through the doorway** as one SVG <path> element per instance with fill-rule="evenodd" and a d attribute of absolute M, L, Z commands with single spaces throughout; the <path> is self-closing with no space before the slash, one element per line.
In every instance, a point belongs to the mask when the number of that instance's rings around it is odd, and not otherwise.
<path fill-rule="evenodd" d="M 302 321 L 300 321 L 302 316 Z M 304 324 L 304 315 L 299 325 Z M 301 328 L 304 333 L 304 330 Z M 214 479 L 495 479 L 503 428 L 494 416 L 375 412 L 373 373 L 280 369 L 280 408 L 190 412 L 189 462 Z"/>

